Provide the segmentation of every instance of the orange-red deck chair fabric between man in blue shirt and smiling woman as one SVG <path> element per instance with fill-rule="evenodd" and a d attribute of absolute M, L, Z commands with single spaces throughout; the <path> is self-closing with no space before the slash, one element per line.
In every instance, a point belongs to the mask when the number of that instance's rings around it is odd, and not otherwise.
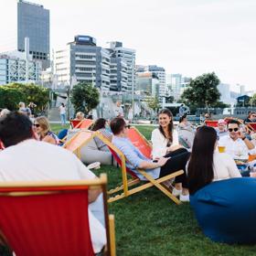
<path fill-rule="evenodd" d="M 127 135 L 132 144 L 138 148 L 144 156 L 151 158 L 152 144 L 147 141 L 142 133 L 132 126 L 128 129 Z"/>

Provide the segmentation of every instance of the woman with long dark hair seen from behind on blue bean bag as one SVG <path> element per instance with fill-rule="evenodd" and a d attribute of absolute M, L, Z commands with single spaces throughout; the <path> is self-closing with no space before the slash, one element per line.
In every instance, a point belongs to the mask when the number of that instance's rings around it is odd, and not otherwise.
<path fill-rule="evenodd" d="M 240 171 L 230 155 L 219 153 L 217 133 L 214 128 L 202 126 L 197 129 L 192 153 L 187 165 L 187 181 L 189 193 L 213 181 L 240 177 Z"/>

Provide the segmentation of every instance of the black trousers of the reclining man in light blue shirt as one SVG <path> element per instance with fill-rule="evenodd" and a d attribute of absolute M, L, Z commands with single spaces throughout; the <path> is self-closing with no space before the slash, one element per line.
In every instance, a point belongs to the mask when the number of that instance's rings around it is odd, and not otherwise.
<path fill-rule="evenodd" d="M 176 176 L 176 183 L 182 183 L 182 187 L 187 188 L 186 165 L 190 153 L 185 148 L 179 148 L 164 157 L 171 157 L 164 166 L 161 167 L 160 177 L 170 175 L 178 170 L 183 170 L 184 174 Z"/>

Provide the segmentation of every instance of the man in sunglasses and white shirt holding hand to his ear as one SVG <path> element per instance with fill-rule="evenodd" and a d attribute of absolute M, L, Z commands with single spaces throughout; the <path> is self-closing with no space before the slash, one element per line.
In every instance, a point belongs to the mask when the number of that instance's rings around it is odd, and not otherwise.
<path fill-rule="evenodd" d="M 248 159 L 249 154 L 256 154 L 255 146 L 240 133 L 240 123 L 231 120 L 228 124 L 229 134 L 219 138 L 219 145 L 225 146 L 225 152 L 234 159 Z"/>

